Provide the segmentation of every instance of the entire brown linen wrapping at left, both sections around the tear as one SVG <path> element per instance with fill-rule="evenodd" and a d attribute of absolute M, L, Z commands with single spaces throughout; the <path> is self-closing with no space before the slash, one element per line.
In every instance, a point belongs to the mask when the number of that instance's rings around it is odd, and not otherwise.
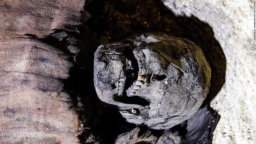
<path fill-rule="evenodd" d="M 84 2 L 0 1 L 1 144 L 79 143 L 78 116 L 63 90 L 72 63 L 61 50 L 28 38 L 72 30 L 82 22 Z"/>

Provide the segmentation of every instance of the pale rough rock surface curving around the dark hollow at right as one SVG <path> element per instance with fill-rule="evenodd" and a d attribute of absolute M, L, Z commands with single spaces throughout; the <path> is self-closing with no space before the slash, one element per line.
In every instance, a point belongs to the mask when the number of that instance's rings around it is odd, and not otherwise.
<path fill-rule="evenodd" d="M 227 59 L 226 83 L 211 102 L 220 120 L 214 144 L 256 141 L 256 41 L 252 1 L 162 0 L 177 16 L 195 16 L 208 23 Z"/>

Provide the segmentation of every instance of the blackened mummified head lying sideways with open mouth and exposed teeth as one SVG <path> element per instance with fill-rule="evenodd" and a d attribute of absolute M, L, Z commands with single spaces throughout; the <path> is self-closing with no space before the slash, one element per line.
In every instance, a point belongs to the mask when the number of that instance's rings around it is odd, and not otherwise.
<path fill-rule="evenodd" d="M 193 42 L 162 33 L 133 35 L 98 47 L 99 98 L 128 122 L 166 129 L 190 118 L 210 86 L 210 67 Z"/>

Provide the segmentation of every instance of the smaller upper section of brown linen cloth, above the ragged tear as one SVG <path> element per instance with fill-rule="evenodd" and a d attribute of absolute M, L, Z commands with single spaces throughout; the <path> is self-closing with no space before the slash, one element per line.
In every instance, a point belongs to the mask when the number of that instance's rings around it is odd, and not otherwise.
<path fill-rule="evenodd" d="M 84 0 L 2 0 L 0 40 L 29 34 L 44 37 L 79 25 Z"/>

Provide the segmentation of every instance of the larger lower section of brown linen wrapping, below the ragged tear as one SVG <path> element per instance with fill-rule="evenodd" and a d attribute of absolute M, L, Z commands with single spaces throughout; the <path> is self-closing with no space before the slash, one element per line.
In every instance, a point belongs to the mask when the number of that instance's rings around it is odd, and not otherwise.
<path fill-rule="evenodd" d="M 0 42 L 0 143 L 77 143 L 78 118 L 62 91 L 72 64 L 37 40 Z"/>

